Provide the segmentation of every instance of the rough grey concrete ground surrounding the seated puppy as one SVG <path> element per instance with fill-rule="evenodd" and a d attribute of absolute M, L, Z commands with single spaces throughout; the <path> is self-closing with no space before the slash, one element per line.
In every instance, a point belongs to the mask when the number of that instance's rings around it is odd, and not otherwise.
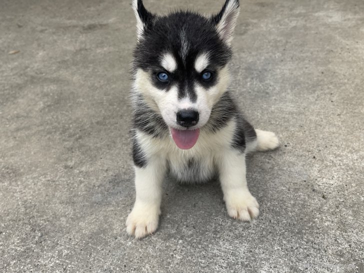
<path fill-rule="evenodd" d="M 166 179 L 142 240 L 124 227 L 134 25 L 129 0 L 1 1 L 0 271 L 364 272 L 364 1 L 241 2 L 232 88 L 281 140 L 248 160 L 260 215 Z"/>

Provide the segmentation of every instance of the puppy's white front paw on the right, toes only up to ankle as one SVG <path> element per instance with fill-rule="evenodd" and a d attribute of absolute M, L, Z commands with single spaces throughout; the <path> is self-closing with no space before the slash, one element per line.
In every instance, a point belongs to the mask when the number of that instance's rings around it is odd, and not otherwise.
<path fill-rule="evenodd" d="M 233 190 L 224 196 L 227 213 L 234 219 L 250 221 L 259 215 L 259 204 L 249 190 Z"/>

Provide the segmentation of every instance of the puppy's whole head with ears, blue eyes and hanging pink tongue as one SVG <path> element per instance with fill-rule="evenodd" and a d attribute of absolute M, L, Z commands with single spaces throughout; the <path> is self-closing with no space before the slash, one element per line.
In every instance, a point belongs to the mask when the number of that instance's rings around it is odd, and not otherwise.
<path fill-rule="evenodd" d="M 158 16 L 133 0 L 138 42 L 134 88 L 160 112 L 177 146 L 190 148 L 226 90 L 238 0 L 211 16 L 188 11 Z M 183 144 L 183 143 L 184 144 Z"/>

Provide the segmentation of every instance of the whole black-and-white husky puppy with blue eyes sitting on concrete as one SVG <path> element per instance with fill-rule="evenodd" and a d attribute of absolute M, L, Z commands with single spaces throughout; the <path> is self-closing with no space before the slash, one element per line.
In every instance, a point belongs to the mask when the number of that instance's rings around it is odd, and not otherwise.
<path fill-rule="evenodd" d="M 137 44 L 132 63 L 132 155 L 136 197 L 126 220 L 141 238 L 158 226 L 162 181 L 206 181 L 218 175 L 227 213 L 259 214 L 246 183 L 245 154 L 278 146 L 273 132 L 254 129 L 228 85 L 238 0 L 215 15 L 176 11 L 155 15 L 132 1 Z"/>

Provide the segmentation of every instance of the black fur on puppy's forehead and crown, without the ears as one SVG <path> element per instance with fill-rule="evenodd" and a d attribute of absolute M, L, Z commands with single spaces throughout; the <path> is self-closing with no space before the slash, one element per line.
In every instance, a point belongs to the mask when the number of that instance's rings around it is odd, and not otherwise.
<path fill-rule="evenodd" d="M 144 29 L 134 50 L 134 65 L 159 70 L 159 58 L 163 52 L 171 52 L 179 71 L 191 71 L 196 55 L 204 51 L 210 53 L 211 63 L 218 67 L 231 57 L 230 47 L 218 36 L 211 19 L 178 11 L 157 17 L 150 28 Z"/>

